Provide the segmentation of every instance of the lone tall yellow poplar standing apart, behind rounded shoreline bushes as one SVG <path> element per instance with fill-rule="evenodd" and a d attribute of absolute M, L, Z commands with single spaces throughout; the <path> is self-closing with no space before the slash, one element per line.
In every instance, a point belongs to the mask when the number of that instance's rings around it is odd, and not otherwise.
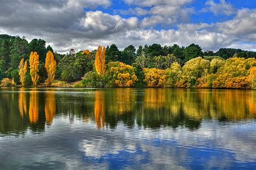
<path fill-rule="evenodd" d="M 106 70 L 106 64 L 105 64 L 105 46 L 102 49 L 102 46 L 98 46 L 96 57 L 95 57 L 95 68 L 99 75 L 102 75 L 105 73 Z"/>

